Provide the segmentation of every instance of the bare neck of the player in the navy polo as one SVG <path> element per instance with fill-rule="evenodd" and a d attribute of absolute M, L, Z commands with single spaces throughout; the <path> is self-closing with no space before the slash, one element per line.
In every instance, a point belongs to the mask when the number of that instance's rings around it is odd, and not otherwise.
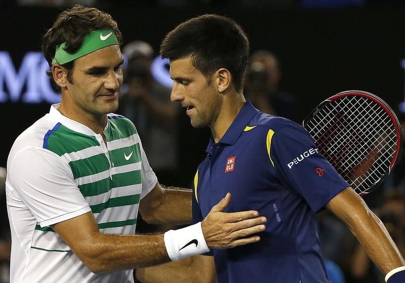
<path fill-rule="evenodd" d="M 226 96 L 224 98 L 218 117 L 215 123 L 210 126 L 212 137 L 216 143 L 225 135 L 245 102 L 246 99 L 242 93 L 235 93 L 231 97 Z"/>

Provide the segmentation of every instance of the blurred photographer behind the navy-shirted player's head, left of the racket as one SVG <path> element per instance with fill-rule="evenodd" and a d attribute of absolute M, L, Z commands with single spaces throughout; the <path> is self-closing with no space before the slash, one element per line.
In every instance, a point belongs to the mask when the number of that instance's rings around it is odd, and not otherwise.
<path fill-rule="evenodd" d="M 295 97 L 279 89 L 280 63 L 267 50 L 252 54 L 245 78 L 245 92 L 252 104 L 265 113 L 301 122 Z"/>

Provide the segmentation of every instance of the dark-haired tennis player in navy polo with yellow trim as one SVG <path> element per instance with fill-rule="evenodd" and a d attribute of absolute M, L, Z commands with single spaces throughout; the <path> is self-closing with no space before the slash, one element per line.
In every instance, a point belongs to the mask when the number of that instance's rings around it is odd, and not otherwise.
<path fill-rule="evenodd" d="M 212 133 L 194 178 L 193 222 L 203 221 L 228 192 L 228 212 L 257 210 L 267 218 L 260 241 L 199 256 L 215 261 L 216 270 L 207 274 L 216 272 L 219 283 L 330 282 L 315 216 L 329 209 L 387 282 L 405 282 L 404 260 L 384 225 L 319 154 L 308 132 L 245 100 L 249 42 L 233 20 L 203 15 L 183 22 L 160 52 L 170 59 L 171 99 L 185 107 L 193 127 L 208 126 Z"/>

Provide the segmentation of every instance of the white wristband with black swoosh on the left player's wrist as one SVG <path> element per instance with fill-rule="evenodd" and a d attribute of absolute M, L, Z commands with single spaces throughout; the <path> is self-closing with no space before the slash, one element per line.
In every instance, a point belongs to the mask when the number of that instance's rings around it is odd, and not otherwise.
<path fill-rule="evenodd" d="M 167 231 L 164 239 L 166 251 L 173 261 L 210 251 L 201 229 L 201 222 L 178 230 Z"/>

